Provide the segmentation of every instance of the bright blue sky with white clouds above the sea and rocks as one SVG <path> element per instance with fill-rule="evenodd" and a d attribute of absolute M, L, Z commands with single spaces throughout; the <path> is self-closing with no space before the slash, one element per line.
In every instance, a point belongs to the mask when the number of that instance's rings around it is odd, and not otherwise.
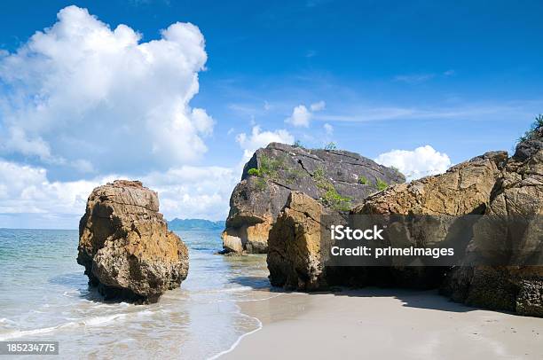
<path fill-rule="evenodd" d="M 224 219 L 254 151 L 334 142 L 409 180 L 543 113 L 539 1 L 0 3 L 0 227 L 75 229 L 115 178 Z"/>

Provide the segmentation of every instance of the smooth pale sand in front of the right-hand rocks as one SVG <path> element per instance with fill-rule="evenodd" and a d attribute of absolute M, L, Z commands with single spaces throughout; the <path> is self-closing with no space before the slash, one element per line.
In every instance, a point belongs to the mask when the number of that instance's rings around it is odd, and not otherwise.
<path fill-rule="evenodd" d="M 397 289 L 270 293 L 239 303 L 262 328 L 221 359 L 541 359 L 543 318 Z"/>

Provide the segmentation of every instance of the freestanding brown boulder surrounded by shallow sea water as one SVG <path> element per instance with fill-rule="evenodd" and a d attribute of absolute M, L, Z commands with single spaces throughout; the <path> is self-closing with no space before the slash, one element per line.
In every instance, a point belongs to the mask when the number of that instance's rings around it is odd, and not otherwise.
<path fill-rule="evenodd" d="M 188 250 L 159 213 L 156 192 L 116 180 L 91 192 L 77 262 L 106 299 L 158 301 L 188 273 Z"/>

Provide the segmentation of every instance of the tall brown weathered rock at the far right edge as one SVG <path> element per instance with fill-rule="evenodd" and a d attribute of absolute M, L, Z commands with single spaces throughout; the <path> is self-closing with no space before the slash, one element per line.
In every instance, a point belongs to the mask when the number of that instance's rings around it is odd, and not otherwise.
<path fill-rule="evenodd" d="M 496 231 L 492 247 L 507 249 L 513 262 L 522 263 L 528 255 L 539 256 L 532 262 L 543 263 L 543 129 L 516 147 L 502 170 L 489 199 L 485 214 L 495 219 L 476 224 L 475 233 Z M 503 219 L 531 219 L 523 228 L 507 229 Z M 515 231 L 515 236 L 503 236 Z M 522 233 L 519 236 L 519 232 Z M 516 241 L 515 244 L 508 244 Z M 471 244 L 476 250 L 478 244 Z M 446 278 L 442 293 L 455 301 L 491 309 L 508 309 L 521 315 L 543 317 L 543 267 L 509 266 L 476 268 L 456 267 Z"/>

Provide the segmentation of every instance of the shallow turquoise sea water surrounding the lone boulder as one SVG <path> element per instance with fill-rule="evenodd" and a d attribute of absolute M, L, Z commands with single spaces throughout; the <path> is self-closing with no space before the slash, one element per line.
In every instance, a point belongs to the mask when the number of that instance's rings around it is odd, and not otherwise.
<path fill-rule="evenodd" d="M 75 262 L 77 231 L 0 229 L 0 340 L 58 340 L 61 358 L 209 358 L 260 321 L 265 257 L 216 255 L 219 231 L 178 231 L 189 276 L 158 303 L 106 303 Z M 58 357 L 56 357 L 58 358 Z"/>

